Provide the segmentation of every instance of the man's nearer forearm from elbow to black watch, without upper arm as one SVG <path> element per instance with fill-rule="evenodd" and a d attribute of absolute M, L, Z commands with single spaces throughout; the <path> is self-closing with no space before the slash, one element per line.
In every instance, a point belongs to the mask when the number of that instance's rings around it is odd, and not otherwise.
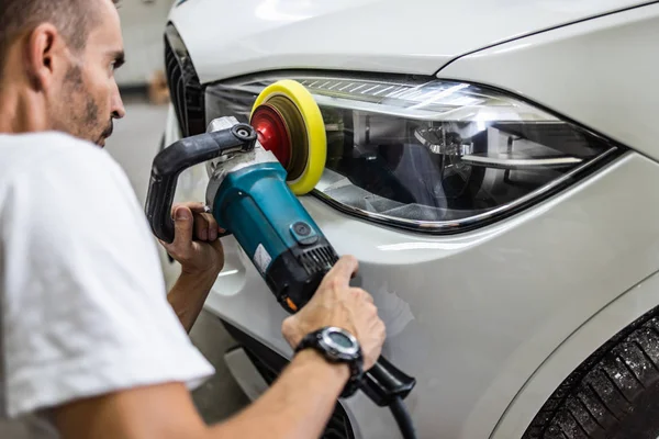
<path fill-rule="evenodd" d="M 348 378 L 346 364 L 331 364 L 313 350 L 300 352 L 260 398 L 204 439 L 317 438 Z"/>

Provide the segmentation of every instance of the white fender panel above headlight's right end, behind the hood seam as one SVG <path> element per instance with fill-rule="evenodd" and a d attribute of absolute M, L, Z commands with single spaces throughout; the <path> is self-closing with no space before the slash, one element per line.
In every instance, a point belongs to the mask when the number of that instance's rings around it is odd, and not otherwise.
<path fill-rule="evenodd" d="M 659 159 L 659 3 L 460 58 L 438 72 L 538 102 Z"/>

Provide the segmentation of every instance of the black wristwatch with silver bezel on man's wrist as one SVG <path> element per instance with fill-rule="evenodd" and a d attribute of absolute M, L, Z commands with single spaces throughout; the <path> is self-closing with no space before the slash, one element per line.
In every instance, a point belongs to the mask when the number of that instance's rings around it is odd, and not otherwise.
<path fill-rule="evenodd" d="M 331 363 L 347 363 L 350 367 L 350 379 L 344 387 L 340 397 L 349 397 L 359 390 L 364 379 L 364 357 L 359 341 L 347 330 L 327 326 L 308 334 L 295 348 L 315 349 Z"/>

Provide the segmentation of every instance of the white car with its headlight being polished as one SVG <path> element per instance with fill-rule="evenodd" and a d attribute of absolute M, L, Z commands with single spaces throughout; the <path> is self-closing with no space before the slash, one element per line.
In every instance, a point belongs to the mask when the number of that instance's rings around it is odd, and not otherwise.
<path fill-rule="evenodd" d="M 313 93 L 327 167 L 301 200 L 360 261 L 420 438 L 659 436 L 659 2 L 181 0 L 165 40 L 165 145 L 278 79 Z M 223 239 L 205 309 L 254 398 L 287 314 Z M 325 437 L 400 432 L 358 393 Z"/>

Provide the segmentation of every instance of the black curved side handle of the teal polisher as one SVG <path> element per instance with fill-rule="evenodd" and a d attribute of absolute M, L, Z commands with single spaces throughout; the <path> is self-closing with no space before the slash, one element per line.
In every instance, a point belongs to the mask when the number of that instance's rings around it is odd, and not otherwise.
<path fill-rule="evenodd" d="M 165 243 L 174 241 L 171 205 L 178 176 L 194 165 L 232 153 L 254 149 L 256 131 L 247 124 L 227 130 L 199 134 L 180 139 L 154 158 L 146 196 L 146 217 L 154 235 Z"/>

